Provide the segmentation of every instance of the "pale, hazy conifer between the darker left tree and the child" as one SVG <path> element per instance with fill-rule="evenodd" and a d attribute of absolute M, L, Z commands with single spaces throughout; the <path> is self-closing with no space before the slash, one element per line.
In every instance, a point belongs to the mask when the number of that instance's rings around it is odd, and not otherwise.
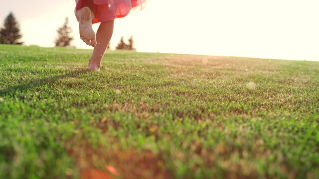
<path fill-rule="evenodd" d="M 72 32 L 71 27 L 68 26 L 69 20 L 66 17 L 64 24 L 57 29 L 58 37 L 55 39 L 55 46 L 66 47 L 70 46 L 70 42 L 73 40 L 73 37 L 70 36 Z"/>

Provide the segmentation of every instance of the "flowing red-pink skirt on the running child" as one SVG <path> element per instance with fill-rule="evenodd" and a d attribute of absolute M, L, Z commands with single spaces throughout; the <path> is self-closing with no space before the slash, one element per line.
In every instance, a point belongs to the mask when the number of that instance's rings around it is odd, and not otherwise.
<path fill-rule="evenodd" d="M 75 11 L 82 7 L 89 7 L 95 14 L 95 19 L 92 22 L 105 22 L 115 18 L 122 18 L 129 14 L 131 9 L 142 9 L 145 0 L 75 0 Z"/>

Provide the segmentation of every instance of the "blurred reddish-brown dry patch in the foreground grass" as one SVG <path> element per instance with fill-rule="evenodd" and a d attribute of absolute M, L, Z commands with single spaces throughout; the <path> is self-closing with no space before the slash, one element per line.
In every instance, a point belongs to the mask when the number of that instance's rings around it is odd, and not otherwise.
<path fill-rule="evenodd" d="M 151 151 L 118 149 L 112 146 L 93 147 L 89 140 L 78 137 L 69 139 L 65 143 L 65 148 L 79 167 L 82 179 L 102 179 L 103 176 L 124 179 L 172 178 L 161 155 Z M 107 171 L 106 166 L 114 167 L 117 174 Z"/>

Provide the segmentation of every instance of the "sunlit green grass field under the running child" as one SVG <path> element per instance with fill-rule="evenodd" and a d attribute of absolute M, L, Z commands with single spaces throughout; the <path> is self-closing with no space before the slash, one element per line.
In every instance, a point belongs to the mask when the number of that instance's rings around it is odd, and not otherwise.
<path fill-rule="evenodd" d="M 319 178 L 319 62 L 90 55 L 0 45 L 0 179 Z"/>

